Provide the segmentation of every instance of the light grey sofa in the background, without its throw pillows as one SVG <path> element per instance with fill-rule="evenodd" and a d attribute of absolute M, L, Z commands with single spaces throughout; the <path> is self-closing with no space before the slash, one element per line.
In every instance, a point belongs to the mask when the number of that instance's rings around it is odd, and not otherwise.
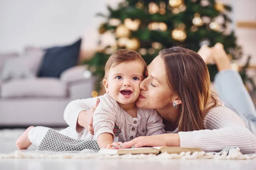
<path fill-rule="evenodd" d="M 6 57 L 0 55 L 0 67 Z M 67 126 L 64 109 L 74 99 L 91 97 L 95 77 L 85 65 L 62 72 L 57 78 L 12 79 L 0 82 L 0 127 L 44 125 Z"/>

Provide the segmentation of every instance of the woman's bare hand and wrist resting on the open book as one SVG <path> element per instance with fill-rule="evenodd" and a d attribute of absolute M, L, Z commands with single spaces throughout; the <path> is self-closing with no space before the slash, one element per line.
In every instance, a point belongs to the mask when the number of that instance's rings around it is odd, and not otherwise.
<path fill-rule="evenodd" d="M 130 147 L 156 147 L 156 146 L 176 146 L 180 147 L 180 136 L 178 133 L 166 133 L 154 136 L 140 136 L 119 146 L 119 149 Z"/>

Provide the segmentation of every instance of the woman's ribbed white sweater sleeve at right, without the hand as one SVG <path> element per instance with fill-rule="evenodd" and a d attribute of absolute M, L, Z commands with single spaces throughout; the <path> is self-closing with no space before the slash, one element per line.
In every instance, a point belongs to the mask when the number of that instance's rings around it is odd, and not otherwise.
<path fill-rule="evenodd" d="M 226 108 L 212 108 L 204 119 L 206 130 L 179 132 L 181 147 L 198 147 L 206 152 L 237 146 L 242 153 L 256 152 L 256 136 L 239 125 Z"/>

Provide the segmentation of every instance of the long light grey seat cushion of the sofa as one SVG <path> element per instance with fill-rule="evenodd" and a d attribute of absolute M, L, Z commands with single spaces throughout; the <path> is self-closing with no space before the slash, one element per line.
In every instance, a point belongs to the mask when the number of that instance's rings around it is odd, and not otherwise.
<path fill-rule="evenodd" d="M 1 85 L 0 97 L 66 97 L 67 86 L 55 78 L 15 79 Z"/>

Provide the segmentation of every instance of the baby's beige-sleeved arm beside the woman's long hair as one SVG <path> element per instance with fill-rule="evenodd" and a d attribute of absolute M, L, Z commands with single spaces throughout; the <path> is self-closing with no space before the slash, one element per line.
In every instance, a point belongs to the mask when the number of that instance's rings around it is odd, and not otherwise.
<path fill-rule="evenodd" d="M 160 135 L 165 133 L 163 119 L 157 113 L 157 111 L 146 109 L 148 112 L 148 119 L 146 122 L 146 134 L 145 136 Z"/>

